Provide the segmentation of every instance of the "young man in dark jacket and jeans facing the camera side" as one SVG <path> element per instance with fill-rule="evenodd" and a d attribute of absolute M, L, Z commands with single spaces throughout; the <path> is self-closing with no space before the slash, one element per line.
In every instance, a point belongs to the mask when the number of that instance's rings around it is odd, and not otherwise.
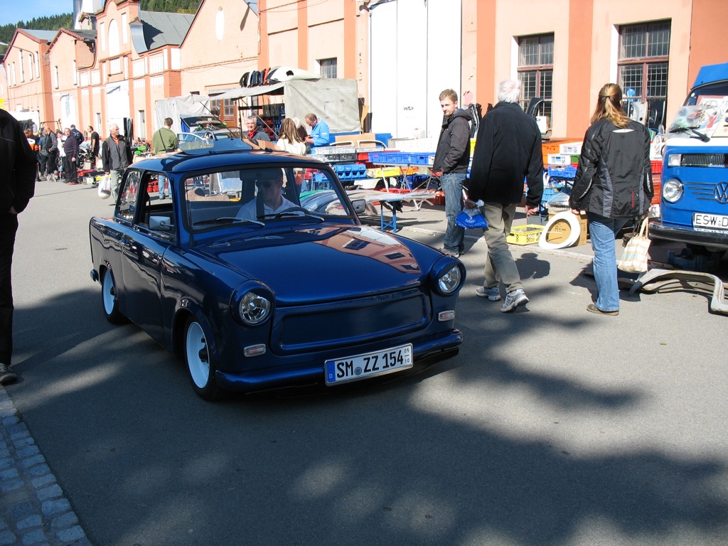
<path fill-rule="evenodd" d="M 470 162 L 470 112 L 457 107 L 457 93 L 446 89 L 440 93 L 443 126 L 438 149 L 432 162 L 432 174 L 440 178 L 445 194 L 445 215 L 448 226 L 443 240 L 443 252 L 459 257 L 464 252 L 465 230 L 455 223 L 462 212 L 462 186 Z"/>

